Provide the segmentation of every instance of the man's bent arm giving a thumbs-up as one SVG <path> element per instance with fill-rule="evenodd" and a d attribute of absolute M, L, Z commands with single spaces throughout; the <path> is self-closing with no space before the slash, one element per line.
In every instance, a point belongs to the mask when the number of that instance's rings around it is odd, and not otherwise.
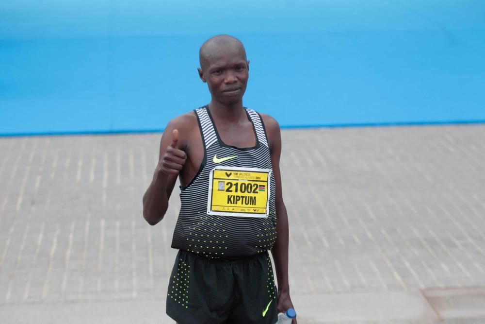
<path fill-rule="evenodd" d="M 157 224 L 165 216 L 178 172 L 182 170 L 187 159 L 186 153 L 179 150 L 177 126 L 177 119 L 174 119 L 163 131 L 159 162 L 152 182 L 143 196 L 143 217 L 150 225 Z"/>

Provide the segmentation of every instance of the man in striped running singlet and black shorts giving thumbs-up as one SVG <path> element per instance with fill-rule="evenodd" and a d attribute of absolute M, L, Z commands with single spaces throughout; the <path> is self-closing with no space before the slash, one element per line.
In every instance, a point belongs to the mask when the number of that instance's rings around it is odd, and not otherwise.
<path fill-rule="evenodd" d="M 279 125 L 242 105 L 249 61 L 241 41 L 212 37 L 199 57 L 211 101 L 168 123 L 143 197 L 143 216 L 155 225 L 179 177 L 181 208 L 172 241 L 179 252 L 167 314 L 179 324 L 275 324 L 278 312 L 293 307 Z"/>

